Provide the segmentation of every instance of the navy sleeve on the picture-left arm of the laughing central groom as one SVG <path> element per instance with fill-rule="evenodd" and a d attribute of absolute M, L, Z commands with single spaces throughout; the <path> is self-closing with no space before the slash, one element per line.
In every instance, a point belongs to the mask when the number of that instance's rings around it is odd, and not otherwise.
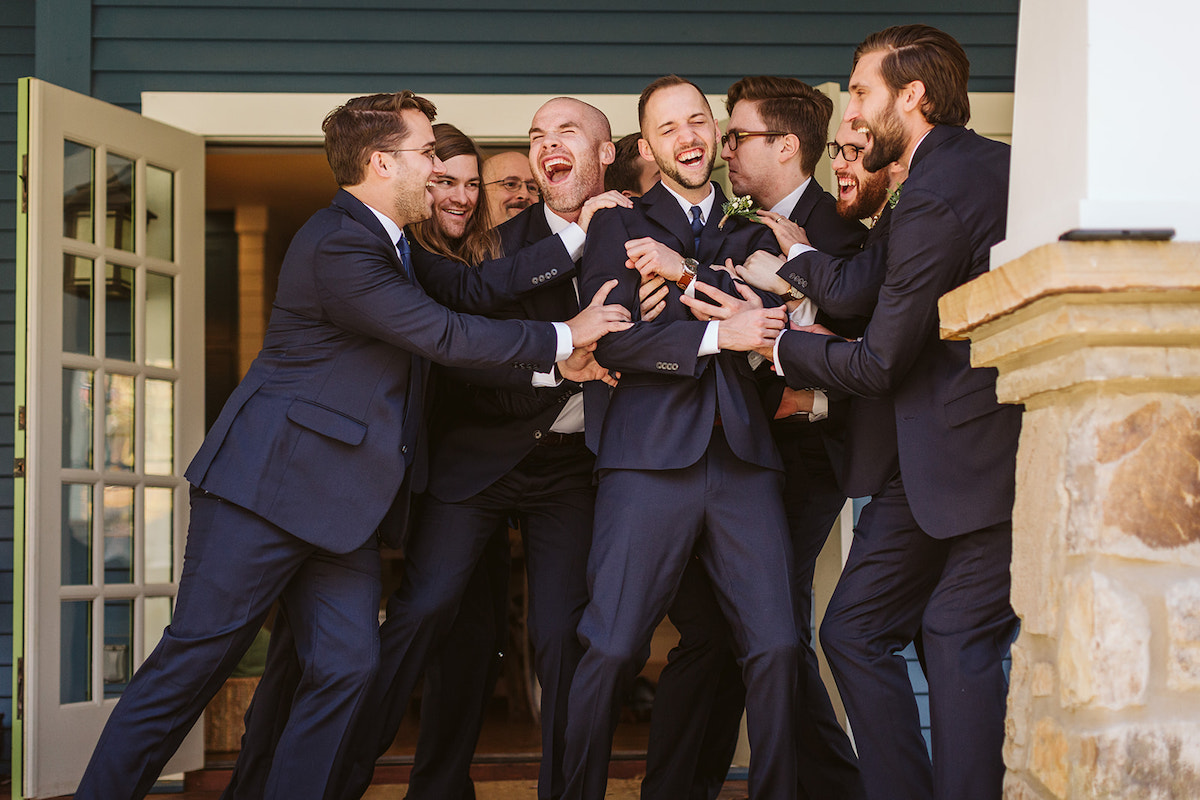
<path fill-rule="evenodd" d="M 698 378 L 712 356 L 700 356 L 700 343 L 708 323 L 670 307 L 678 303 L 678 289 L 671 288 L 668 308 L 659 318 L 646 323 L 638 319 L 637 289 L 641 275 L 625 266 L 625 242 L 630 236 L 624 222 L 625 209 L 601 209 L 592 217 L 588 242 L 583 248 L 580 296 L 592 297 L 608 279 L 617 278 L 617 287 L 608 293 L 607 302 L 629 308 L 636 320 L 632 327 L 608 333 L 596 343 L 598 362 L 618 372 L 656 372 L 674 377 Z M 682 308 L 680 303 L 680 308 Z M 665 319 L 666 318 L 666 319 Z"/>

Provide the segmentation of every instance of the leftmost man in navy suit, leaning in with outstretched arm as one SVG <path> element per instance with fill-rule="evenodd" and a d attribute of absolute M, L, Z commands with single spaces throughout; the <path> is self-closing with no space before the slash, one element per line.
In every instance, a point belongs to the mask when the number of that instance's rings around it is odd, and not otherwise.
<path fill-rule="evenodd" d="M 422 471 L 427 360 L 550 369 L 624 326 L 613 307 L 574 330 L 470 318 L 420 289 L 401 229 L 430 213 L 427 182 L 442 170 L 433 115 L 406 91 L 326 116 L 343 188 L 293 240 L 263 349 L 188 467 L 172 624 L 113 710 L 77 798 L 144 796 L 276 599 L 302 678 L 263 796 L 322 798 L 378 663 L 376 531 Z"/>

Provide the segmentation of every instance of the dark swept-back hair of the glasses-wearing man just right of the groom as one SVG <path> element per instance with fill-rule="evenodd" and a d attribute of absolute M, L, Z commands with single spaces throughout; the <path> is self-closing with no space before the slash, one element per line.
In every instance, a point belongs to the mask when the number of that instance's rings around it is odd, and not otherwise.
<path fill-rule="evenodd" d="M 782 131 L 799 139 L 800 169 L 811 175 L 829 138 L 833 101 L 798 78 L 775 76 L 750 76 L 730 86 L 725 110 L 732 114 L 743 100 L 757 104 L 768 131 Z"/>

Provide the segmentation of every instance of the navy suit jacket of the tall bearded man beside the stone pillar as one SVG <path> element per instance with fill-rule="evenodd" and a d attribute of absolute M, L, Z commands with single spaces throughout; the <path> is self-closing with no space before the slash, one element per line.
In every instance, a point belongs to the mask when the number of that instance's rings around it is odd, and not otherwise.
<path fill-rule="evenodd" d="M 1021 409 L 996 402 L 996 371 L 938 337 L 937 300 L 988 271 L 1004 237 L 1009 148 L 937 126 L 917 149 L 892 213 L 887 273 L 863 338 L 788 332 L 792 386 L 890 397 L 895 449 L 917 523 L 946 539 L 1012 518 Z M 890 443 L 881 443 L 887 456 Z"/>

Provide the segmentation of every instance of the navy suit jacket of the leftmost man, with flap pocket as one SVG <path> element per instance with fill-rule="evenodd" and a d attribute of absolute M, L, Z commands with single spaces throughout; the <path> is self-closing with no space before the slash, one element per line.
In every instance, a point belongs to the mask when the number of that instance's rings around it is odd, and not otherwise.
<path fill-rule="evenodd" d="M 263 349 L 187 480 L 347 553 L 414 469 L 427 361 L 548 369 L 556 344 L 550 325 L 439 306 L 404 273 L 374 213 L 338 191 L 293 239 Z"/>

